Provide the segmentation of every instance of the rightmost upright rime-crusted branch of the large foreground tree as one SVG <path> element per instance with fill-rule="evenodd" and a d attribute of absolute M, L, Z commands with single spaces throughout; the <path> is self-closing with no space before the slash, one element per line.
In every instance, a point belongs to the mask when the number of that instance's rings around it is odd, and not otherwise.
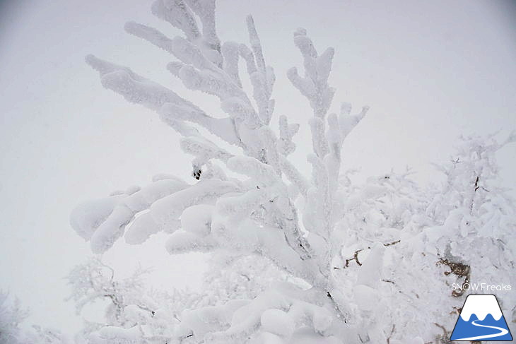
<path fill-rule="evenodd" d="M 363 119 L 368 107 L 362 112 L 350 115 L 351 105 L 344 103 L 341 107 L 341 114 L 329 114 L 327 112 L 332 104 L 334 88 L 328 84 L 329 72 L 332 69 L 334 49 L 328 48 L 322 54 L 318 54 L 312 40 L 307 37 L 305 29 L 298 29 L 294 33 L 294 43 L 300 49 L 303 56 L 305 75 L 299 76 L 295 67 L 288 70 L 287 76 L 300 93 L 307 97 L 310 102 L 314 116 L 310 119 L 310 131 L 312 136 L 312 149 L 314 154 L 308 155 L 307 159 L 312 165 L 312 181 L 310 186 L 305 186 L 303 179 L 298 172 L 288 164 L 286 159 L 281 166 L 286 176 L 293 184 L 298 186 L 303 196 L 307 197 L 305 210 L 305 227 L 310 232 L 317 233 L 326 243 L 325 254 L 320 256 L 332 256 L 332 231 L 335 217 L 333 213 L 334 193 L 338 189 L 339 171 L 341 169 L 341 147 L 344 139 L 351 130 Z M 280 134 L 286 155 L 290 152 L 288 148 L 290 136 L 286 120 L 280 119 Z M 325 265 L 324 269 L 329 266 Z M 329 273 L 327 273 L 329 275 Z"/>

